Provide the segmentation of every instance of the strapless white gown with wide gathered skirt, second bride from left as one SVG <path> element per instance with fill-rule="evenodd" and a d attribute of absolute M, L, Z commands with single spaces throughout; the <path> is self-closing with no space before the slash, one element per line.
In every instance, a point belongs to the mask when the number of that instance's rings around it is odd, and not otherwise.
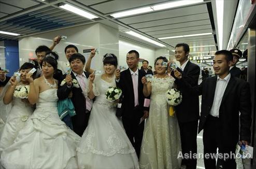
<path fill-rule="evenodd" d="M 78 168 L 80 137 L 60 120 L 56 90 L 39 94 L 36 110 L 1 155 L 5 168 Z"/>

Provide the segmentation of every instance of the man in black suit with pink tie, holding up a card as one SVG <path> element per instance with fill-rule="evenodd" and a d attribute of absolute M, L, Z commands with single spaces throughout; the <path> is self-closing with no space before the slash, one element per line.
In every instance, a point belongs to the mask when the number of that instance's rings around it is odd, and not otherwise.
<path fill-rule="evenodd" d="M 71 100 L 75 107 L 76 115 L 72 117 L 72 123 L 74 131 L 82 136 L 83 131 L 86 129 L 89 121 L 90 111 L 92 108 L 92 100 L 90 100 L 86 94 L 86 88 L 88 86 L 89 74 L 83 71 L 86 59 L 83 55 L 76 53 L 69 58 L 70 67 L 72 72 L 70 75 L 64 75 L 63 79 L 66 79 L 64 86 L 59 85 L 58 97 L 59 99 L 65 99 L 71 93 Z M 72 80 L 76 79 L 79 83 L 79 88 L 74 87 Z M 59 84 L 61 81 L 59 81 Z"/>

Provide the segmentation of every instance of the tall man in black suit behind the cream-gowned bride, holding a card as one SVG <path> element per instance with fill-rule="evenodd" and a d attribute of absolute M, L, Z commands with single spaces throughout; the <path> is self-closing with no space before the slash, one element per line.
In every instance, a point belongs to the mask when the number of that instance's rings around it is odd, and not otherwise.
<path fill-rule="evenodd" d="M 175 47 L 175 58 L 180 62 L 180 68 L 171 63 L 171 67 L 174 70 L 179 71 L 182 77 L 186 79 L 191 86 L 196 86 L 198 83 L 198 77 L 200 74 L 200 67 L 188 59 L 189 56 L 189 45 L 186 43 L 177 44 Z M 171 73 L 174 76 L 174 71 Z M 177 83 L 177 80 L 175 81 Z M 180 105 L 176 106 L 177 117 L 180 127 L 180 137 L 181 137 L 181 147 L 182 154 L 185 153 L 197 153 L 197 126 L 199 119 L 199 99 L 198 95 L 192 95 L 188 92 L 184 92 L 178 86 L 178 89 L 182 93 L 182 102 Z M 181 165 L 187 166 L 189 168 L 196 168 L 196 159 L 182 159 Z"/>

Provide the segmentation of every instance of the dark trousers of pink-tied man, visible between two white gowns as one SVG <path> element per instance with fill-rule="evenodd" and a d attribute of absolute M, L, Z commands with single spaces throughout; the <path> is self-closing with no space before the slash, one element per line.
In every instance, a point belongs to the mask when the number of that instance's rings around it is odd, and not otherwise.
<path fill-rule="evenodd" d="M 76 114 L 72 117 L 73 130 L 80 137 L 82 137 L 83 131 L 86 130 L 90 114 L 91 114 L 90 112 L 89 113 L 84 112 L 84 113 Z"/>

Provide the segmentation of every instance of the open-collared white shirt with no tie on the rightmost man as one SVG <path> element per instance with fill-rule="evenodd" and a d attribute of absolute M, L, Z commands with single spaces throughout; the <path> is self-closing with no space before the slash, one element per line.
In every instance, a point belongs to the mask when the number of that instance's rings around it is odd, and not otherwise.
<path fill-rule="evenodd" d="M 230 81 L 230 73 L 224 79 L 221 79 L 219 76 L 217 77 L 215 94 L 214 94 L 214 103 L 212 103 L 212 107 L 210 110 L 210 115 L 219 117 L 220 104 L 223 97 L 223 94 L 226 90 L 227 83 Z"/>

